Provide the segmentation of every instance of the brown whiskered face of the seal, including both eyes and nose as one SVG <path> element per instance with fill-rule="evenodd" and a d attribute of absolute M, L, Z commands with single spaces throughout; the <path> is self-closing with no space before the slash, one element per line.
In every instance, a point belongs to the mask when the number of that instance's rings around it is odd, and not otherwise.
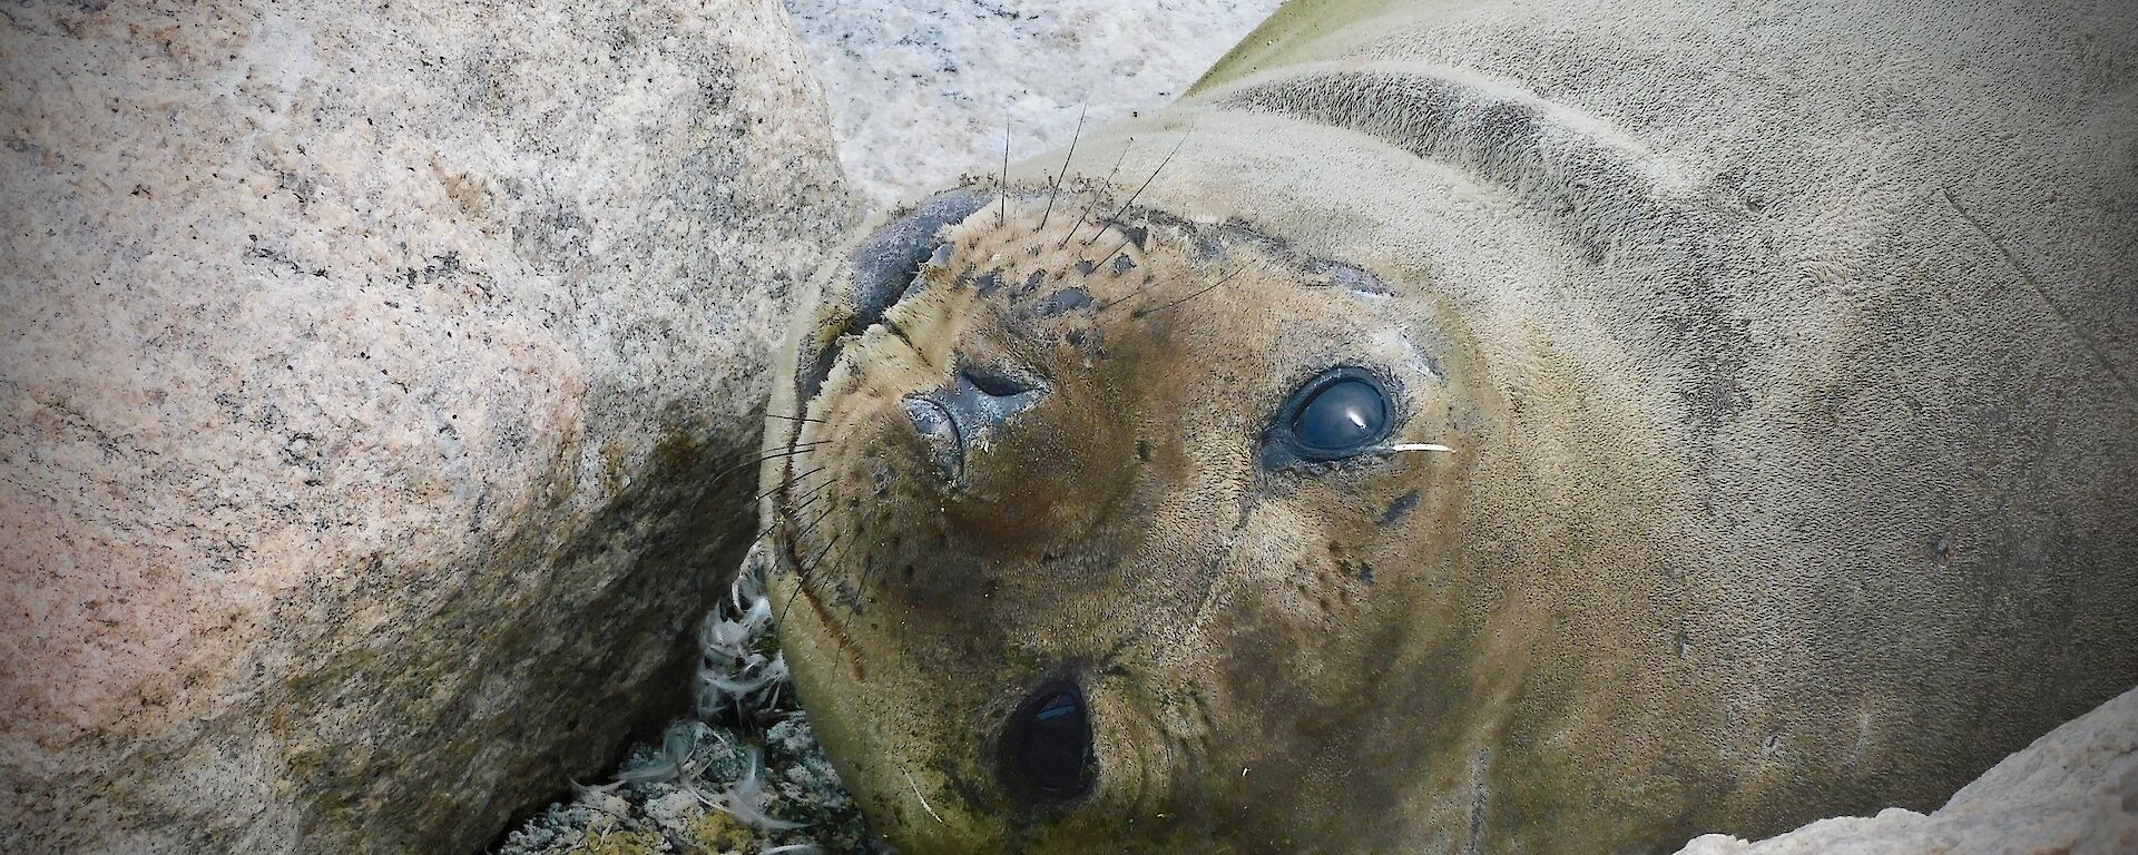
<path fill-rule="evenodd" d="M 877 259 L 921 261 L 894 289 Z M 1259 846 L 1300 829 L 1270 789 L 1351 797 L 1300 776 L 1377 740 L 1349 686 L 1394 665 L 1379 592 L 1447 584 L 1490 430 L 1430 295 L 1052 190 L 936 197 L 845 278 L 797 359 L 783 637 L 896 842 L 1118 851 L 1137 817 Z"/>

